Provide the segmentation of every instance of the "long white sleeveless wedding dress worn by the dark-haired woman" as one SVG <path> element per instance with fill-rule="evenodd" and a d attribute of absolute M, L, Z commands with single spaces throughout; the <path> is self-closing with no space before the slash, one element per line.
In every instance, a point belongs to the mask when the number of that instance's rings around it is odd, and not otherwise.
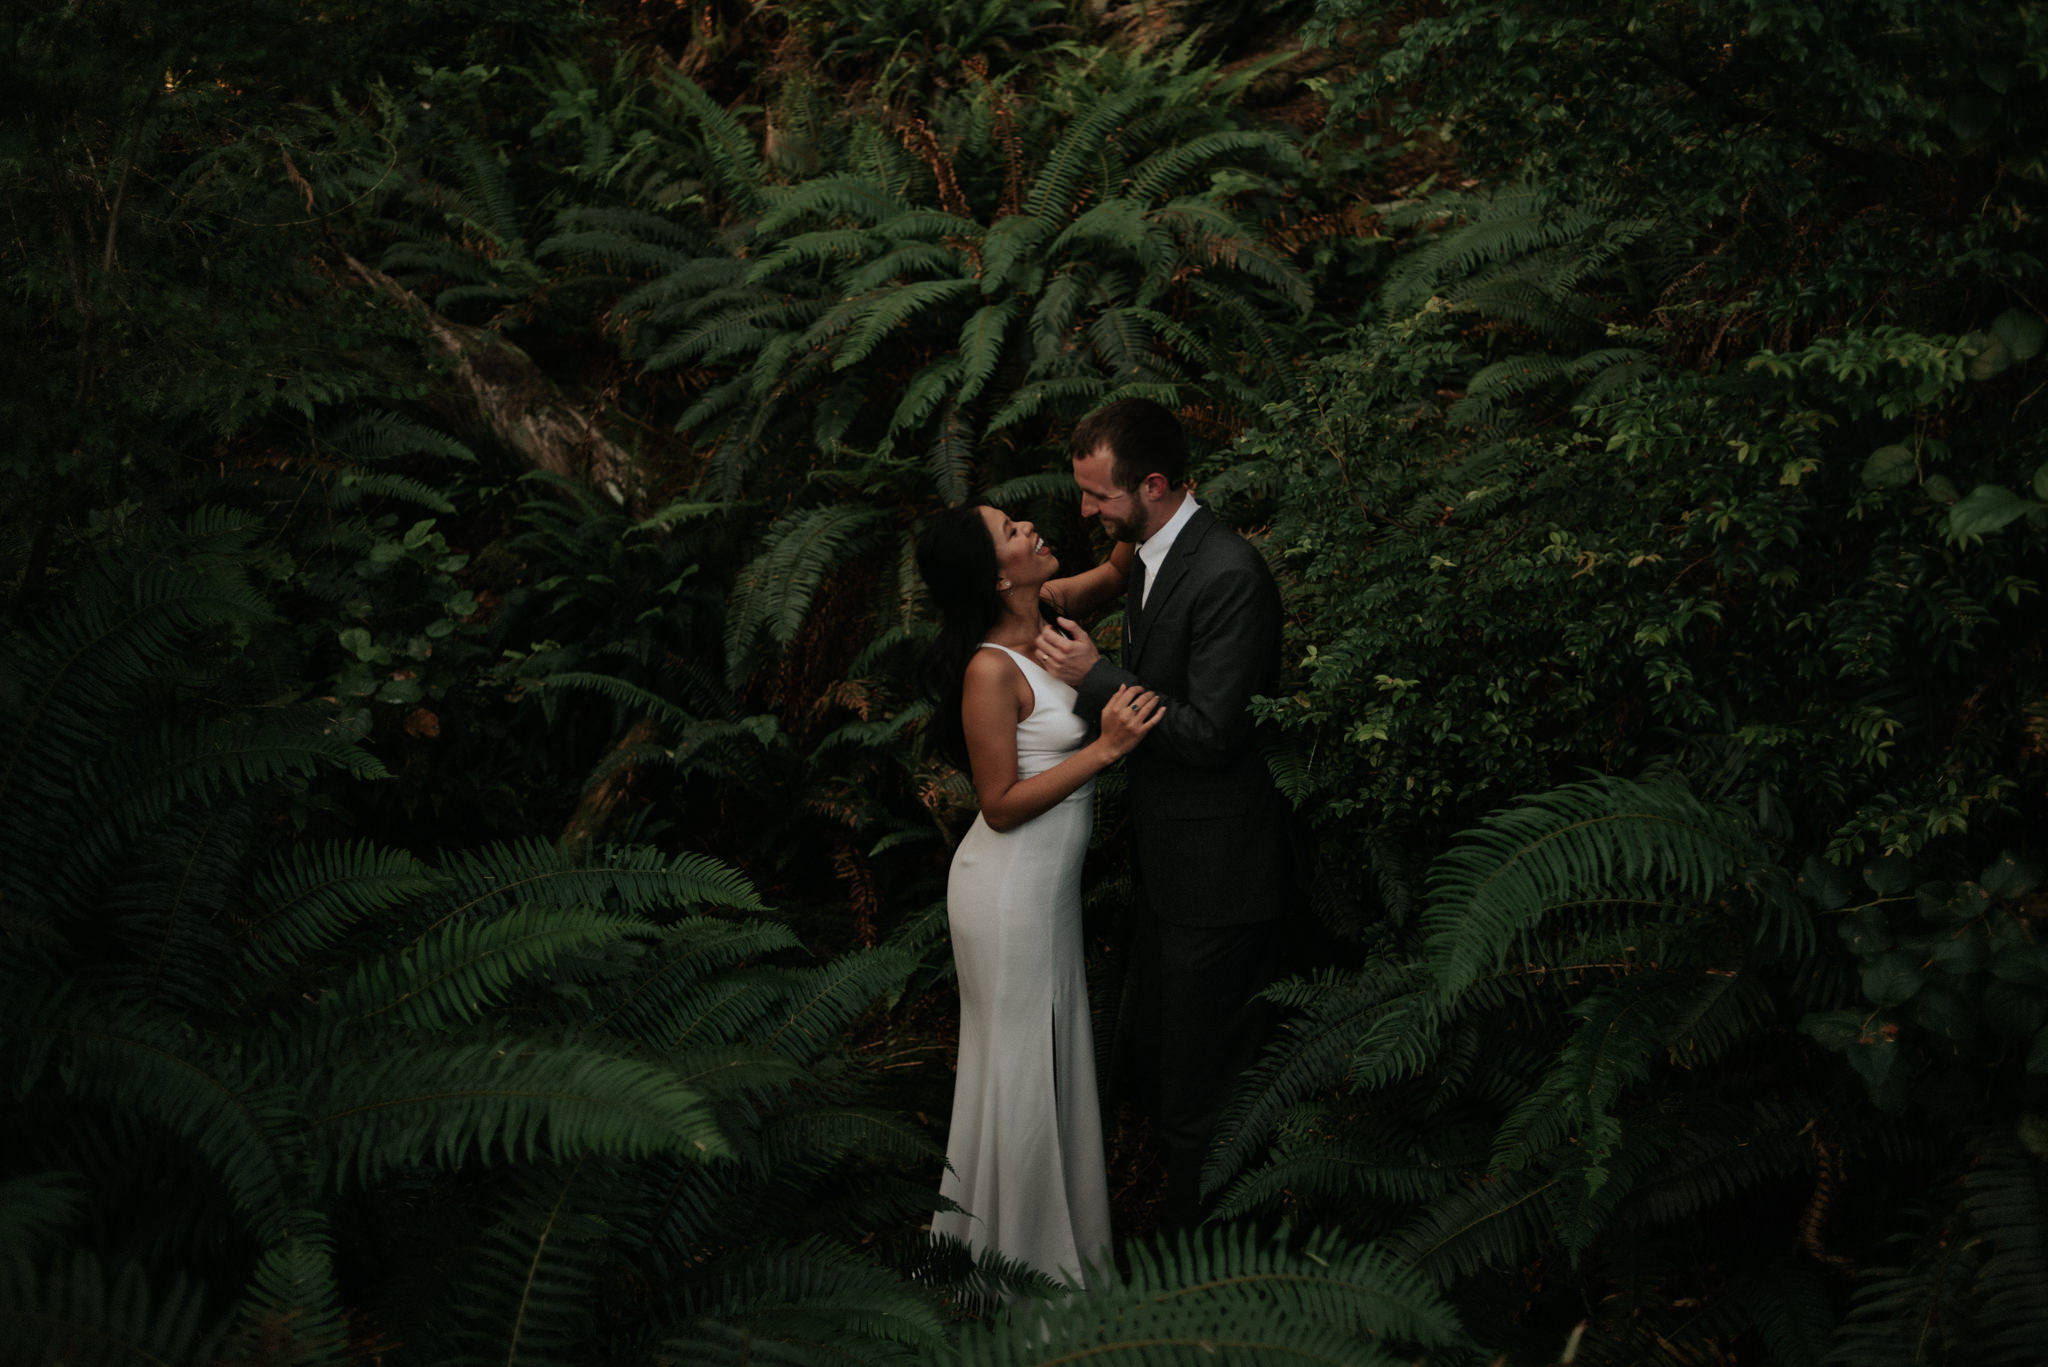
<path fill-rule="evenodd" d="M 1018 777 L 1087 742 L 1073 689 L 1008 646 L 1032 691 Z M 961 1070 L 932 1217 L 973 1250 L 995 1248 L 1083 1285 L 1110 1244 L 1096 1047 L 1081 963 L 1081 857 L 1096 818 L 1090 779 L 1051 812 L 997 832 L 983 818 L 952 855 L 946 918 L 961 976 Z"/>

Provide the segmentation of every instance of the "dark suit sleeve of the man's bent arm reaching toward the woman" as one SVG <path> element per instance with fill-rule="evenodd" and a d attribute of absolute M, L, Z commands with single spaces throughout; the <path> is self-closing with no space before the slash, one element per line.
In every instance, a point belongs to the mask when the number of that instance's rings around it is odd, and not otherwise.
<path fill-rule="evenodd" d="M 1118 685 L 1159 693 L 1165 719 L 1145 738 L 1159 758 L 1190 769 L 1223 769 L 1251 744 L 1251 699 L 1280 650 L 1280 594 L 1266 576 L 1233 564 L 1194 592 L 1188 633 L 1188 695 L 1169 697 L 1130 670 L 1098 660 L 1075 691 L 1075 711 L 1098 717 Z"/>

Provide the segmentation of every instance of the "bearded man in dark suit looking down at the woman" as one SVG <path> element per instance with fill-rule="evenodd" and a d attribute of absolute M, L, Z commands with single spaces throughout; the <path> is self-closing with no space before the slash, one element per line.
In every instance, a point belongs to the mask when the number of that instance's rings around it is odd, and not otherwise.
<path fill-rule="evenodd" d="M 1249 713 L 1278 685 L 1280 592 L 1257 549 L 1188 492 L 1188 439 L 1159 404 L 1100 408 L 1073 428 L 1069 457 L 1081 516 L 1137 543 L 1124 662 L 1065 619 L 1034 650 L 1077 689 L 1081 717 L 1126 682 L 1165 703 L 1130 754 L 1137 937 L 1118 1053 L 1165 1146 L 1165 1228 L 1186 1230 L 1202 1215 L 1217 1119 L 1260 1045 L 1251 996 L 1278 976 L 1286 939 L 1286 812 Z"/>

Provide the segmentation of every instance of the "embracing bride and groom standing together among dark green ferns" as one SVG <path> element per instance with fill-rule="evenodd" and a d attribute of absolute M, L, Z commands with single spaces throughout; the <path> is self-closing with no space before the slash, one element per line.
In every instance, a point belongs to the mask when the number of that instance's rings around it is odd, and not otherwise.
<path fill-rule="evenodd" d="M 1137 887 L 1116 1070 L 1165 1150 L 1165 1228 L 1200 1217 L 1200 1170 L 1260 1045 L 1280 969 L 1286 807 L 1247 703 L 1280 672 L 1280 594 L 1260 553 L 1186 486 L 1171 412 L 1120 400 L 1069 441 L 1106 562 L 1059 576 L 1030 523 L 952 508 L 918 568 L 940 609 L 936 734 L 981 814 L 952 857 L 961 984 L 948 1172 L 932 1232 L 1071 1285 L 1110 1248 L 1081 953 L 1096 775 L 1130 758 Z M 1124 594 L 1122 664 L 1075 625 Z"/>

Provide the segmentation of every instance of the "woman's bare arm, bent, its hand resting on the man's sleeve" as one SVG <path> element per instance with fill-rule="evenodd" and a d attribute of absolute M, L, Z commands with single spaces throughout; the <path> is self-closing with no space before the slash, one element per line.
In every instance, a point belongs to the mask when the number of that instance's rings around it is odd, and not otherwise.
<path fill-rule="evenodd" d="M 1051 812 L 1083 783 L 1130 754 L 1165 711 L 1145 689 L 1118 689 L 1102 709 L 1102 734 L 1053 769 L 1018 779 L 1018 721 L 1030 715 L 1030 682 L 1016 660 L 997 650 L 979 650 L 967 662 L 961 721 L 967 728 L 967 760 L 975 779 L 981 818 L 993 830 L 1016 830 Z"/>

